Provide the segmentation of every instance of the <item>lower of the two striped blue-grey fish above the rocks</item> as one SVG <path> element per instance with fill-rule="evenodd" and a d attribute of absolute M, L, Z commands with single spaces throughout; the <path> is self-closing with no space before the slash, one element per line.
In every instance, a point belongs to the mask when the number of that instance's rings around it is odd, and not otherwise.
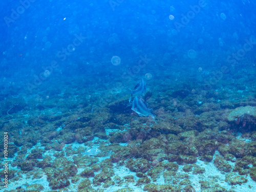
<path fill-rule="evenodd" d="M 133 100 L 132 110 L 139 114 L 139 116 L 150 116 L 154 119 L 156 114 L 153 109 L 148 109 L 147 103 L 139 96 L 136 96 Z"/>

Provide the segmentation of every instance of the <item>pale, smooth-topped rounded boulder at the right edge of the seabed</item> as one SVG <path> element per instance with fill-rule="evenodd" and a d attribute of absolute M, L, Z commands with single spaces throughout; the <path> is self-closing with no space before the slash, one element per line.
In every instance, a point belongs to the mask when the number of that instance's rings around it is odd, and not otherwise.
<path fill-rule="evenodd" d="M 235 121 L 238 118 L 243 120 L 247 119 L 249 116 L 251 116 L 252 119 L 256 118 L 256 107 L 254 106 L 240 106 L 239 108 L 236 108 L 232 110 L 229 115 L 227 116 L 228 121 Z"/>

